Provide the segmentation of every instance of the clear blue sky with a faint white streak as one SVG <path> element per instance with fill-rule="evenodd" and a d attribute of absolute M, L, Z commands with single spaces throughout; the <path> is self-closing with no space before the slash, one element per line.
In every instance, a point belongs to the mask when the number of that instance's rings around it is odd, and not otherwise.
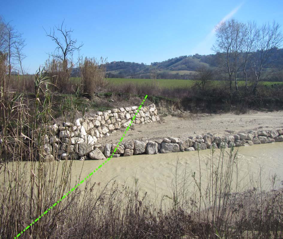
<path fill-rule="evenodd" d="M 213 29 L 234 17 L 283 25 L 282 0 L 246 1 L 0 1 L 0 15 L 26 39 L 24 66 L 30 73 L 48 58 L 55 43 L 45 36 L 65 19 L 83 42 L 80 55 L 143 62 L 181 55 L 210 54 Z M 282 27 L 283 28 L 283 27 Z M 283 30 L 283 29 L 282 29 Z"/>

